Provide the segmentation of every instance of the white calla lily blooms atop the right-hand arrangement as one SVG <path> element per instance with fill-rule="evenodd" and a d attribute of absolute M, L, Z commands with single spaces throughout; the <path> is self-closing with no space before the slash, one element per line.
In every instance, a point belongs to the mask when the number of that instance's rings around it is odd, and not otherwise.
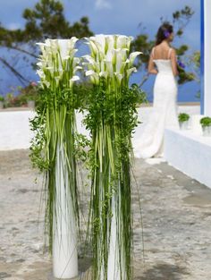
<path fill-rule="evenodd" d="M 88 66 L 86 76 L 94 84 L 99 83 L 100 77 L 105 80 L 117 81 L 118 84 L 128 82 L 132 72 L 136 72 L 133 67 L 134 60 L 141 52 L 130 54 L 131 37 L 118 35 L 97 35 L 87 38 L 91 55 L 82 56 Z"/>

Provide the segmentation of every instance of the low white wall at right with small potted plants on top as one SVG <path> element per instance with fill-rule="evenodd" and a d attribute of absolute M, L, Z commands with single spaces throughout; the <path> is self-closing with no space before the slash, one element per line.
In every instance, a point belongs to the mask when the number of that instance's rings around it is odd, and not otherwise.
<path fill-rule="evenodd" d="M 211 138 L 192 131 L 165 130 L 165 159 L 174 168 L 211 188 Z"/>

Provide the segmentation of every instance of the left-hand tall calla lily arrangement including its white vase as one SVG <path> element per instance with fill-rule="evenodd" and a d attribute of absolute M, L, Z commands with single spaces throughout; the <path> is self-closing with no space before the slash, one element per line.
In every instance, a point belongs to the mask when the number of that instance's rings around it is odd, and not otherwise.
<path fill-rule="evenodd" d="M 49 250 L 55 256 L 57 278 L 78 274 L 77 266 L 68 267 L 70 259 L 76 259 L 77 263 L 76 228 L 79 223 L 75 152 L 75 109 L 79 97 L 75 94 L 74 82 L 80 80 L 76 72 L 81 67 L 80 58 L 75 57 L 77 40 L 74 37 L 46 39 L 45 43 L 38 43 L 41 50 L 38 59 L 39 102 L 36 116 L 30 121 L 35 132 L 30 157 L 46 178 L 46 234 Z M 37 85 L 31 84 L 30 87 L 34 89 Z M 64 243 L 62 235 L 66 238 Z"/>

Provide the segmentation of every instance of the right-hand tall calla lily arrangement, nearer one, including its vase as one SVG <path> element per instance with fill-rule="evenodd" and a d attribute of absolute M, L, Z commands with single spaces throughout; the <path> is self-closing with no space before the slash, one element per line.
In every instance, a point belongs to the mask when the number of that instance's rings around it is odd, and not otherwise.
<path fill-rule="evenodd" d="M 92 279 L 131 279 L 131 133 L 137 125 L 140 90 L 129 87 L 134 60 L 131 37 L 87 38 L 83 56 L 92 82 L 88 115 L 91 133 L 89 235 L 93 245 Z M 113 256 L 113 257 L 111 257 Z"/>

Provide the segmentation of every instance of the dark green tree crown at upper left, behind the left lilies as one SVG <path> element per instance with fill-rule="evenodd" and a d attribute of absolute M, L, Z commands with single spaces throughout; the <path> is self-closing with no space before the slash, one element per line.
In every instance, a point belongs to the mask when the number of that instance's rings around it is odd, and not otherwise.
<path fill-rule="evenodd" d="M 0 27 L 1 46 L 13 47 L 13 44 L 32 43 L 45 38 L 83 38 L 93 35 L 87 17 L 82 17 L 72 25 L 66 21 L 60 1 L 40 0 L 34 8 L 25 9 L 22 16 L 26 21 L 23 30 Z"/>

